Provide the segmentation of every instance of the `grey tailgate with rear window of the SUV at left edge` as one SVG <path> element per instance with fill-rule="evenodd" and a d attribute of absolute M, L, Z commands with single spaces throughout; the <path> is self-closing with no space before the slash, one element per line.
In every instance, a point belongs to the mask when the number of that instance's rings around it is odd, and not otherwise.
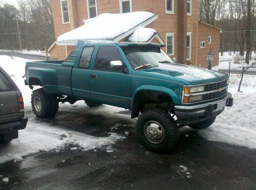
<path fill-rule="evenodd" d="M 18 120 L 16 91 L 0 72 L 0 123 Z"/>

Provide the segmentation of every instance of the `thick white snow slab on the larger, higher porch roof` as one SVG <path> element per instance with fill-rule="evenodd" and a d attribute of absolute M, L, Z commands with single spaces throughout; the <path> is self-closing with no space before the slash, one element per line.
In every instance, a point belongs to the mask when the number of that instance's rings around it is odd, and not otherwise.
<path fill-rule="evenodd" d="M 146 26 L 158 18 L 150 12 L 124 14 L 103 13 L 88 19 L 84 25 L 62 34 L 58 45 L 76 45 L 78 40 L 119 41 L 135 32 L 139 26 Z"/>

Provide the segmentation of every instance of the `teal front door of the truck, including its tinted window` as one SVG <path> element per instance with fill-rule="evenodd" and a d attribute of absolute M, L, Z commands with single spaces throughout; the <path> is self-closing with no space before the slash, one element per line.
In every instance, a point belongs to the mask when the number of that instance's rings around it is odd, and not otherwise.
<path fill-rule="evenodd" d="M 90 74 L 91 100 L 129 108 L 131 74 L 124 73 L 123 68 L 112 70 L 111 61 L 121 61 L 125 66 L 114 44 L 100 46 Z"/>

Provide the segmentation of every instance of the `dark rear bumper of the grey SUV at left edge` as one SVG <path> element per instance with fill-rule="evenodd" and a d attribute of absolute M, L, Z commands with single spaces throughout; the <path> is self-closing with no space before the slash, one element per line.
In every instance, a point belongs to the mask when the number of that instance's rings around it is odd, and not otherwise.
<path fill-rule="evenodd" d="M 28 123 L 28 117 L 24 116 L 18 121 L 8 122 L 0 124 L 0 134 L 5 134 L 8 132 L 17 131 L 20 129 L 25 129 Z"/>

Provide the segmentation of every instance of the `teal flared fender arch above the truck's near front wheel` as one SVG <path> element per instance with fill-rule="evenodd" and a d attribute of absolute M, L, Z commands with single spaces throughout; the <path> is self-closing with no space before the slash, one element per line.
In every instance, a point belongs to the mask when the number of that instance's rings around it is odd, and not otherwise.
<path fill-rule="evenodd" d="M 180 103 L 179 97 L 172 89 L 165 88 L 165 87 L 159 87 L 159 86 L 152 86 L 152 85 L 142 85 L 142 86 L 138 87 L 133 93 L 133 98 L 132 98 L 132 102 L 131 102 L 131 110 L 132 110 L 131 118 L 136 118 L 139 115 L 139 110 L 136 105 L 136 96 L 138 95 L 139 92 L 144 91 L 144 90 L 165 93 L 165 94 L 169 95 L 170 98 L 172 98 L 172 100 L 175 104 Z"/>

